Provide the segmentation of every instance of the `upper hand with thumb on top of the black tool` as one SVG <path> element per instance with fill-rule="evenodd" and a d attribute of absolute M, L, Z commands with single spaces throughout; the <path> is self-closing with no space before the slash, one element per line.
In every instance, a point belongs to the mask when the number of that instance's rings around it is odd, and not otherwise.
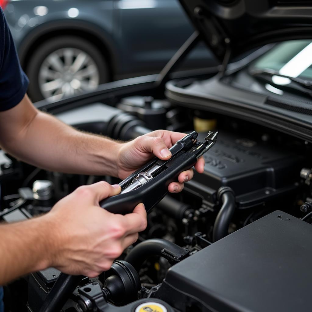
<path fill-rule="evenodd" d="M 156 130 L 148 134 L 139 136 L 133 141 L 121 144 L 117 156 L 118 176 L 120 179 L 128 177 L 135 170 L 147 163 L 153 154 L 160 159 L 167 160 L 171 157 L 168 148 L 172 147 L 185 133 L 172 132 L 168 130 Z M 153 153 L 153 154 L 152 154 Z M 195 169 L 199 173 L 204 172 L 205 161 L 201 157 L 195 164 Z M 183 171 L 178 177 L 178 182 L 170 183 L 169 192 L 178 193 L 183 189 L 183 182 L 193 178 L 193 169 Z"/>

